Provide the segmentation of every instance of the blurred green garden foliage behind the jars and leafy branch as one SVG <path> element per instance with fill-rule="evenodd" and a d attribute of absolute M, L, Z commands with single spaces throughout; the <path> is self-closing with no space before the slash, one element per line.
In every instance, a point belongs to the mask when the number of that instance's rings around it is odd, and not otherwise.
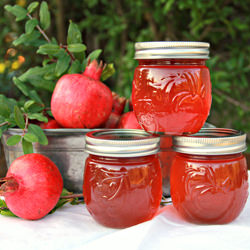
<path fill-rule="evenodd" d="M 21 99 L 13 84 L 30 67 L 42 63 L 32 44 L 14 46 L 25 32 L 25 22 L 16 22 L 4 6 L 30 0 L 0 1 L 0 94 Z M 41 1 L 38 1 L 41 2 Z M 50 37 L 65 44 L 69 20 L 82 33 L 87 53 L 102 49 L 100 58 L 114 63 L 115 74 L 105 83 L 120 95 L 130 97 L 134 43 L 139 41 L 209 42 L 213 86 L 208 121 L 215 126 L 243 130 L 250 138 L 250 1 L 245 0 L 50 0 Z M 34 12 L 38 16 L 38 11 Z M 50 95 L 51 93 L 46 93 Z"/>

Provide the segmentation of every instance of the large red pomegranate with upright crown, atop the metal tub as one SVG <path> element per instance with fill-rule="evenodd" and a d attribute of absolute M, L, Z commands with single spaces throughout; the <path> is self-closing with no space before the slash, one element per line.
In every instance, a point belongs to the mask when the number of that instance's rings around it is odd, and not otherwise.
<path fill-rule="evenodd" d="M 83 74 L 66 74 L 56 84 L 51 111 L 64 128 L 96 128 L 112 110 L 112 92 L 99 81 L 102 63 L 93 60 Z"/>

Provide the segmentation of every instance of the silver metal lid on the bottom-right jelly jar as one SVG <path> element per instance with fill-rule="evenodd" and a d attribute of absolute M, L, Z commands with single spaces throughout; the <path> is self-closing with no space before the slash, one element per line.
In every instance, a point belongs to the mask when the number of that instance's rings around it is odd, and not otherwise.
<path fill-rule="evenodd" d="M 246 134 L 227 128 L 204 128 L 193 135 L 174 136 L 173 149 L 193 155 L 228 155 L 247 149 Z"/>

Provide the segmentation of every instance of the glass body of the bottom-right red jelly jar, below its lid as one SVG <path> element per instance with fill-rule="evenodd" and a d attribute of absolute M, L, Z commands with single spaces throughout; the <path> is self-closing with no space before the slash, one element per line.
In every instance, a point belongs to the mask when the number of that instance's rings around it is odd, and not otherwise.
<path fill-rule="evenodd" d="M 228 223 L 248 197 L 243 154 L 196 156 L 177 153 L 171 169 L 171 197 L 177 211 L 195 223 Z"/>

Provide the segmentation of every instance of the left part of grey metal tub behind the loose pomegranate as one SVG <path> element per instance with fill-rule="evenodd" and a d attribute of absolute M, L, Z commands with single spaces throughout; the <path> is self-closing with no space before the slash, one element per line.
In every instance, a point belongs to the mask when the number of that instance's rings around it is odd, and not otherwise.
<path fill-rule="evenodd" d="M 74 193 L 82 192 L 85 160 L 88 154 L 84 152 L 85 134 L 90 129 L 45 129 L 48 145 L 34 143 L 34 152 L 50 158 L 59 168 L 64 187 Z M 7 139 L 12 135 L 22 135 L 21 129 L 8 129 L 2 135 L 7 167 L 19 156 L 23 155 L 21 143 L 8 146 Z"/>

